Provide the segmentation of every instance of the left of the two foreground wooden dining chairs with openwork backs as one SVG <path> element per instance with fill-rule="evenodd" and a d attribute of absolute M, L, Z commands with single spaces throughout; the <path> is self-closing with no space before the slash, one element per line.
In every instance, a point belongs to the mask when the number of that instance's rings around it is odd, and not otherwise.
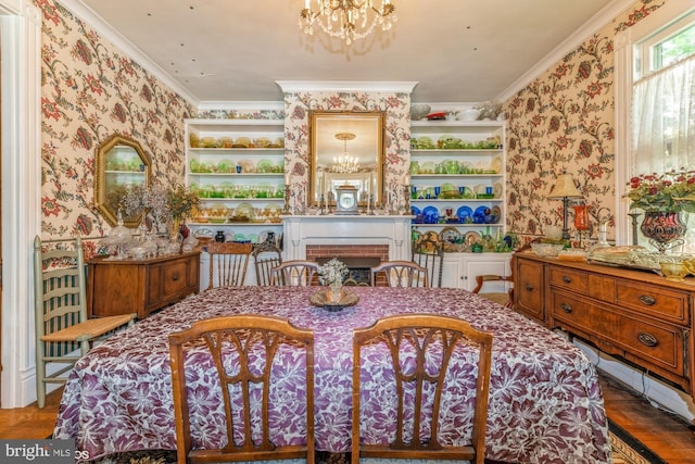
<path fill-rule="evenodd" d="M 189 329 L 170 334 L 168 339 L 179 463 L 293 457 L 304 457 L 307 463 L 314 463 L 313 330 L 296 328 L 280 317 L 231 315 L 199 321 Z M 291 346 L 304 352 L 305 398 L 294 400 L 305 402 L 306 441 L 303 444 L 278 444 L 270 437 L 271 372 L 280 346 Z M 213 388 L 215 385 L 220 389 L 226 444 L 216 449 L 193 449 L 192 436 L 195 436 L 197 426 L 190 414 L 197 403 L 189 402 L 188 394 L 194 386 L 188 383 L 194 380 L 186 375 L 186 368 L 210 356 L 217 376 L 208 386 Z M 301 424 L 295 425 L 301 427 Z"/>

